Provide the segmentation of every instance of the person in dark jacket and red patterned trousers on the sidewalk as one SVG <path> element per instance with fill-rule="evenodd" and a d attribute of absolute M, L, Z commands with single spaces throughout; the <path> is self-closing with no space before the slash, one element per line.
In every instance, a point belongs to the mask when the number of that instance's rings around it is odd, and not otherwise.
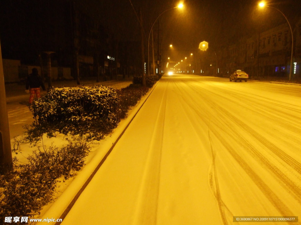
<path fill-rule="evenodd" d="M 42 82 L 42 78 L 39 76 L 38 69 L 33 68 L 32 73 L 27 76 L 26 79 L 26 93 L 30 92 L 29 104 L 33 103 L 33 98 L 36 95 L 37 98 L 40 98 L 40 86 L 45 91 L 45 85 Z M 29 89 L 30 88 L 30 89 Z"/>

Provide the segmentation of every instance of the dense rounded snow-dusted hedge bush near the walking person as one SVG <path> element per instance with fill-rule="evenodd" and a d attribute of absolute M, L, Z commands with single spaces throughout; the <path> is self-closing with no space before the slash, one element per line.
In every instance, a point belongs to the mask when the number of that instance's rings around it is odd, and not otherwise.
<path fill-rule="evenodd" d="M 120 121 L 117 93 L 106 86 L 52 88 L 30 110 L 36 119 L 33 127 L 42 133 L 88 133 L 101 139 Z"/>

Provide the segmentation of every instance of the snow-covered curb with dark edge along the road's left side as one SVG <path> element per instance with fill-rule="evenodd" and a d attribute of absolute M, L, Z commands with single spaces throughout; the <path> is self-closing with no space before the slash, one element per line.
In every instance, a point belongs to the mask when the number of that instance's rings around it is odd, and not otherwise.
<path fill-rule="evenodd" d="M 75 177 L 75 179 L 69 184 L 69 186 L 64 190 L 61 196 L 59 196 L 57 200 L 51 205 L 51 207 L 45 212 L 45 214 L 42 215 L 43 218 L 57 218 L 64 220 L 64 218 L 67 216 L 68 212 L 70 211 L 76 200 L 79 198 L 80 194 L 84 191 L 85 187 L 93 179 L 95 173 L 97 173 L 98 169 L 110 155 L 118 140 L 122 137 L 126 129 L 131 124 L 132 120 L 135 118 L 135 116 L 141 109 L 141 107 L 144 105 L 148 97 L 154 91 L 159 81 L 157 81 L 151 88 L 151 90 L 148 91 L 148 93 L 140 100 L 140 102 L 134 107 L 132 112 L 130 112 L 128 117 L 122 122 L 120 122 L 118 132 L 113 132 L 111 136 L 108 136 L 107 138 L 102 140 L 104 142 L 104 146 L 102 146 L 102 148 L 108 150 L 97 152 L 93 159 L 80 171 L 81 173 L 79 173 Z M 42 225 L 44 223 L 38 222 L 36 224 Z M 50 222 L 48 224 L 59 225 L 61 224 L 61 222 Z"/>

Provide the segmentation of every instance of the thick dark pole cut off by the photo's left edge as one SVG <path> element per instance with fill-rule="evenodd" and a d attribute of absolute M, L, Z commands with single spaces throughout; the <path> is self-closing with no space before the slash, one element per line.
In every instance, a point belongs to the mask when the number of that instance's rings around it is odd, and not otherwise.
<path fill-rule="evenodd" d="M 11 170 L 12 164 L 11 139 L 9 136 L 4 73 L 0 45 L 0 173 L 3 174 Z"/>

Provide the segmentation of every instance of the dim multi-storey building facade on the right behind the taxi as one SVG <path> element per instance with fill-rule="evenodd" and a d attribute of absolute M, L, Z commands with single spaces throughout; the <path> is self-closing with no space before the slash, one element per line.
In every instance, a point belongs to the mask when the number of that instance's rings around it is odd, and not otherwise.
<path fill-rule="evenodd" d="M 301 79 L 301 18 L 293 29 L 293 68 L 291 79 Z M 219 76 L 227 77 L 234 70 L 244 70 L 251 78 L 282 77 L 290 73 L 292 35 L 287 23 L 237 43 L 218 52 Z"/>

